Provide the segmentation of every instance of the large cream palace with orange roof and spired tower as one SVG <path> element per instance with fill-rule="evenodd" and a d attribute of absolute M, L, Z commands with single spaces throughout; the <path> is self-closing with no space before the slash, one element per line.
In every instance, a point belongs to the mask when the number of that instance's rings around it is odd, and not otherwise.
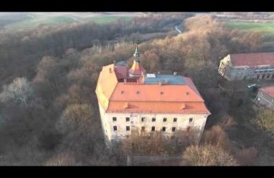
<path fill-rule="evenodd" d="M 140 64 L 138 47 L 134 64 L 103 66 L 96 94 L 107 144 L 128 138 L 132 131 L 161 131 L 174 138 L 179 130 L 203 132 L 210 115 L 192 79 L 146 73 Z"/>

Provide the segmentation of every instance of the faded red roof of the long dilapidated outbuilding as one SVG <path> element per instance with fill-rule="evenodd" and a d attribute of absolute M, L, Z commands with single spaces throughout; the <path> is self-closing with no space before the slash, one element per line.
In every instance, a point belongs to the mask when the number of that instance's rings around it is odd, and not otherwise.
<path fill-rule="evenodd" d="M 233 66 L 274 66 L 274 53 L 230 54 Z"/>

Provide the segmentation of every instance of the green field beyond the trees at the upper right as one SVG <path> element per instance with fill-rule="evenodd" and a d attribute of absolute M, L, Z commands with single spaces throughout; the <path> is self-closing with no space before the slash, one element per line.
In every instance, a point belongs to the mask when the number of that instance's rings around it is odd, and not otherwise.
<path fill-rule="evenodd" d="M 245 31 L 262 31 L 265 36 L 274 36 L 274 22 L 252 23 L 252 22 L 227 22 L 228 29 L 242 29 Z"/>

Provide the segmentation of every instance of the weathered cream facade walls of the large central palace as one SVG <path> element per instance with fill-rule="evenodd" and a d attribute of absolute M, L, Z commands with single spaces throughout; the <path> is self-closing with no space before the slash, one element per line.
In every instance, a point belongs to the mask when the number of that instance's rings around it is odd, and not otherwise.
<path fill-rule="evenodd" d="M 151 127 L 155 127 L 155 131 L 162 131 L 162 127 L 166 127 L 164 133 L 167 136 L 172 136 L 178 130 L 186 130 L 191 127 L 191 129 L 199 130 L 199 136 L 201 136 L 208 117 L 207 114 L 105 113 L 100 105 L 99 107 L 107 144 L 111 140 L 130 136 L 134 129 L 140 132 L 142 127 L 145 127 L 146 132 L 150 132 Z M 116 117 L 116 121 L 113 121 L 113 117 Z M 129 121 L 126 121 L 127 117 L 129 117 Z M 144 122 L 142 122 L 142 118 L 145 118 Z M 152 121 L 152 118 L 155 118 L 155 122 Z M 166 122 L 163 121 L 164 118 L 166 118 Z M 177 118 L 177 122 L 173 122 L 173 118 Z M 192 122 L 189 121 L 190 118 L 192 118 Z M 114 131 L 114 126 L 117 127 L 117 131 Z M 129 131 L 126 130 L 127 126 L 129 126 Z M 172 131 L 173 127 L 175 127 L 175 132 Z"/>

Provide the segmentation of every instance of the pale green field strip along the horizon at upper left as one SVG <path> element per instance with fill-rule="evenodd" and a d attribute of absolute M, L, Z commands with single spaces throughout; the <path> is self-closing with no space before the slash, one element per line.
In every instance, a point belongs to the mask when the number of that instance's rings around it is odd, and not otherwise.
<path fill-rule="evenodd" d="M 42 16 L 32 15 L 24 21 L 10 23 L 5 25 L 5 29 L 30 29 L 38 25 L 63 25 L 73 22 L 95 21 L 96 23 L 111 23 L 114 21 L 124 20 L 128 21 L 133 16 Z"/>

